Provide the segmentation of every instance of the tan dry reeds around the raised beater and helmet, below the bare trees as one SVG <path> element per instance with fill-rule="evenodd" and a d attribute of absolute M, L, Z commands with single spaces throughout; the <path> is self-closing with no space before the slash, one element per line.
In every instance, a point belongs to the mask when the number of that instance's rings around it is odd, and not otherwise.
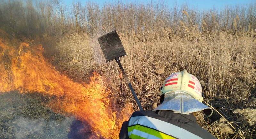
<path fill-rule="evenodd" d="M 220 115 L 216 112 L 209 119 L 198 115 L 201 117 L 198 122 L 204 128 L 218 138 L 255 137 L 255 124 L 246 126 L 237 119 L 237 114 L 232 113 L 235 109 L 245 108 L 248 100 L 255 96 L 256 69 L 253 62 L 256 60 L 256 40 L 251 35 L 255 32 L 240 35 L 213 32 L 210 37 L 205 37 L 194 28 L 182 24 L 180 27 L 186 29 L 183 35 L 168 35 L 169 29 L 163 29 L 161 35 L 148 33 L 147 41 L 139 41 L 136 35 L 126 37 L 119 33 L 128 54 L 121 62 L 144 109 L 150 110 L 154 103 L 159 103 L 159 88 L 169 74 L 186 69 L 205 82 L 206 101 L 231 121 L 236 130 L 220 131 L 220 124 L 216 123 Z M 85 39 L 82 37 L 85 35 L 75 36 L 76 39 L 63 39 L 55 46 L 60 50 L 55 59 L 55 63 L 57 59 L 59 61 L 57 67 L 71 70 L 69 76 L 79 75 L 80 78 L 86 78 L 90 70 L 97 70 L 108 78 L 108 84 L 118 93 L 120 108 L 129 103 L 135 104 L 124 79 L 120 78 L 117 64 L 104 63 L 96 37 Z M 76 65 L 65 69 L 68 63 L 74 62 L 73 57 L 76 57 Z M 136 105 L 133 106 L 138 110 Z M 229 125 L 221 126 L 228 128 Z"/>

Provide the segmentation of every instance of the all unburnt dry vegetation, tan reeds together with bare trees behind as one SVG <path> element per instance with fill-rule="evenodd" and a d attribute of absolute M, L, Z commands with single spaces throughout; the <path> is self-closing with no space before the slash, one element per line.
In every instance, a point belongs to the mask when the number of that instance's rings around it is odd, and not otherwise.
<path fill-rule="evenodd" d="M 121 62 L 144 109 L 158 102 L 169 74 L 186 69 L 205 83 L 205 101 L 235 129 L 216 112 L 208 119 L 197 113 L 200 125 L 218 138 L 256 137 L 256 3 L 198 11 L 184 4 L 3 1 L 0 27 L 43 43 L 45 56 L 75 80 L 92 70 L 105 75 L 117 106 L 132 103 L 138 110 L 116 63 L 104 63 L 96 39 L 115 29 L 128 54 Z"/>

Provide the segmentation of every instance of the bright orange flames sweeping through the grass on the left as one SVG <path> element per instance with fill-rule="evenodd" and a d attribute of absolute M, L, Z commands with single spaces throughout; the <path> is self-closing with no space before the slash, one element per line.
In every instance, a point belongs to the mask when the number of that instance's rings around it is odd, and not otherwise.
<path fill-rule="evenodd" d="M 113 93 L 94 72 L 90 82 L 77 83 L 61 75 L 44 58 L 42 45 L 21 43 L 10 47 L 0 38 L 0 92 L 18 90 L 39 92 L 56 99 L 49 103 L 55 112 L 65 111 L 87 121 L 98 137 L 118 138 L 123 121 L 132 109 L 118 113 L 113 105 Z"/>

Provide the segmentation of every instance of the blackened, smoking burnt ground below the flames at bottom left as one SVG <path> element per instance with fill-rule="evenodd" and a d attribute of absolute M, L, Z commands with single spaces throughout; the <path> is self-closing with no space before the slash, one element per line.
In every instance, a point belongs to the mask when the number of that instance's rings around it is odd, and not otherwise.
<path fill-rule="evenodd" d="M 40 93 L 0 93 L 0 138 L 96 138 L 86 122 L 54 113 Z"/>

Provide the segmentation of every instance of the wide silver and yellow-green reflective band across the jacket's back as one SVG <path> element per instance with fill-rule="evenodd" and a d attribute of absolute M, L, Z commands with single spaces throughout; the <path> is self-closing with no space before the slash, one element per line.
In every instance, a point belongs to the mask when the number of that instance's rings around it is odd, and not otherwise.
<path fill-rule="evenodd" d="M 132 117 L 128 124 L 129 138 L 200 138 L 187 130 L 148 116 Z"/>

